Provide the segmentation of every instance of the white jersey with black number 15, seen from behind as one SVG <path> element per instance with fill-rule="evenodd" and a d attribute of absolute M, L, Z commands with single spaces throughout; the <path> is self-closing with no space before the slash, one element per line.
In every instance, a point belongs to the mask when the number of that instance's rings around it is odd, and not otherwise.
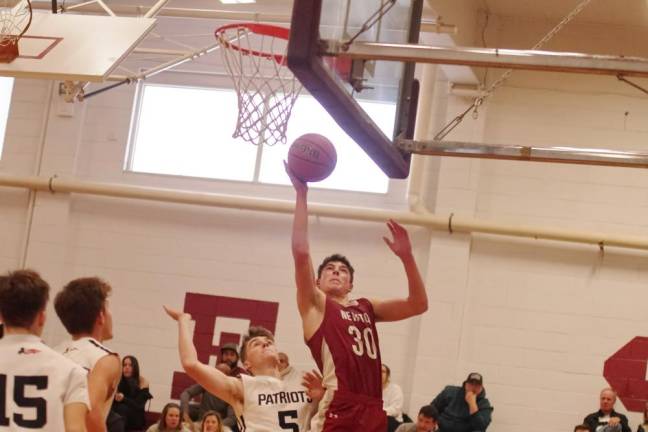
<path fill-rule="evenodd" d="M 0 339 L 0 431 L 62 432 L 73 403 L 89 405 L 81 367 L 34 335 Z"/>

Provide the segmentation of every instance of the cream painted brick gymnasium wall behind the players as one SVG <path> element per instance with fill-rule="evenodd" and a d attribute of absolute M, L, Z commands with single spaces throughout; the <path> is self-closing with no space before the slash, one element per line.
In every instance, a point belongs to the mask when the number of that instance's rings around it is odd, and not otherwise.
<path fill-rule="evenodd" d="M 506 40 L 510 26 L 498 28 Z M 436 76 L 434 97 L 443 111 L 430 121 L 440 125 L 470 100 L 448 94 L 446 78 Z M 255 193 L 255 185 L 124 171 L 134 88 L 76 104 L 72 117 L 59 115 L 55 90 L 48 82 L 16 80 L 0 172 Z M 638 150 L 648 140 L 647 118 L 645 97 L 614 78 L 520 72 L 448 138 Z M 428 166 L 426 204 L 434 213 L 648 234 L 643 170 L 452 158 Z M 271 193 L 293 196 L 290 188 Z M 345 196 L 356 206 L 379 205 L 375 197 Z M 314 202 L 324 198 L 331 197 L 311 195 Z M 386 205 L 405 208 L 405 197 Z M 296 366 L 313 366 L 295 307 L 288 215 L 77 194 L 32 197 L 6 187 L 0 188 L 0 214 L 0 271 L 24 262 L 50 281 L 52 297 L 79 276 L 112 284 L 115 337 L 109 346 L 140 359 L 155 410 L 168 401 L 173 371 L 180 370 L 175 325 L 162 305 L 181 307 L 187 292 L 277 302 L 278 345 Z M 357 295 L 406 293 L 401 265 L 381 239 L 382 224 L 312 218 L 310 226 L 316 262 L 337 251 L 351 258 Z M 379 330 L 383 360 L 403 386 L 411 415 L 471 371 L 484 374 L 495 432 L 571 430 L 597 409 L 598 392 L 607 385 L 604 361 L 648 325 L 645 251 L 410 232 L 429 311 Z M 226 330 L 243 324 L 229 321 Z M 52 344 L 65 338 L 53 310 L 44 337 Z M 626 411 L 621 403 L 617 408 Z M 633 429 L 639 417 L 630 415 Z"/>

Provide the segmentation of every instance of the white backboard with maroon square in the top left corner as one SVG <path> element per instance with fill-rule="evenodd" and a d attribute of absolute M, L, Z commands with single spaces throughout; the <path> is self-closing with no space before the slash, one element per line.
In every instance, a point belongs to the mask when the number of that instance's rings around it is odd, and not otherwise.
<path fill-rule="evenodd" d="M 0 76 L 105 81 L 154 24 L 154 18 L 34 11 L 20 55 L 0 63 Z"/>

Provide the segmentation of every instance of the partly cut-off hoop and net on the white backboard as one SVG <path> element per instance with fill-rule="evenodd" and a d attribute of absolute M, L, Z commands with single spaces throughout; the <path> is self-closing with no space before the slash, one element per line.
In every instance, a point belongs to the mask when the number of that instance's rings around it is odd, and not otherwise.
<path fill-rule="evenodd" d="M 11 63 L 18 57 L 18 41 L 31 25 L 30 0 L 20 0 L 8 6 L 8 0 L 0 1 L 0 63 Z"/>

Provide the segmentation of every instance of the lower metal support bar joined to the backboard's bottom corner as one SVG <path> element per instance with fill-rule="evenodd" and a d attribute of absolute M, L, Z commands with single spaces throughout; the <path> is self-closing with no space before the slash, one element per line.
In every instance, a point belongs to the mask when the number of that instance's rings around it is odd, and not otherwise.
<path fill-rule="evenodd" d="M 459 141 L 415 141 L 406 139 L 398 139 L 396 146 L 407 152 L 432 156 L 648 168 L 648 153 L 607 149 L 508 146 Z"/>

